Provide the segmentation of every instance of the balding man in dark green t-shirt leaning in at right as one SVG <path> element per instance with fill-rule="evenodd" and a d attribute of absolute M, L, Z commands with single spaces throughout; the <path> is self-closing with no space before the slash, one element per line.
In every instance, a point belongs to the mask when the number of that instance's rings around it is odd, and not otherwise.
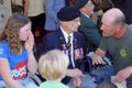
<path fill-rule="evenodd" d="M 109 52 L 113 58 L 114 81 L 127 80 L 127 88 L 132 88 L 132 26 L 125 24 L 124 14 L 116 8 L 108 10 L 101 22 L 103 37 L 92 56 L 92 64 L 105 65 L 103 57 Z"/>

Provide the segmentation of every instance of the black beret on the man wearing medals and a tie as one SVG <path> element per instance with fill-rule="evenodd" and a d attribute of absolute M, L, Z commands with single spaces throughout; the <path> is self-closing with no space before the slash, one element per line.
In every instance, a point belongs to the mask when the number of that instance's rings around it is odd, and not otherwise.
<path fill-rule="evenodd" d="M 80 16 L 80 11 L 75 7 L 64 7 L 57 13 L 57 18 L 61 21 L 72 21 L 79 16 Z"/>

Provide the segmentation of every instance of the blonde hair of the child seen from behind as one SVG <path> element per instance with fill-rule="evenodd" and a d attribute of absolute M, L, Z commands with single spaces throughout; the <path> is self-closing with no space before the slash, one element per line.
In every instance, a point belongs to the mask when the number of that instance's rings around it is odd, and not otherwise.
<path fill-rule="evenodd" d="M 38 70 L 43 78 L 55 80 L 65 75 L 68 64 L 67 55 L 62 51 L 53 50 L 41 56 Z"/>

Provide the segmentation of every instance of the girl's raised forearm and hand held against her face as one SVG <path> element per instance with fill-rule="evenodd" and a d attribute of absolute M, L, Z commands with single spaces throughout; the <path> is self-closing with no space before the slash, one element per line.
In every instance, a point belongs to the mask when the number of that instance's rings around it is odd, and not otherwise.
<path fill-rule="evenodd" d="M 29 40 L 25 42 L 25 50 L 28 52 L 28 69 L 31 74 L 35 74 L 37 70 L 37 63 L 33 54 L 33 45 L 34 45 L 34 38 L 33 34 L 29 36 Z"/>

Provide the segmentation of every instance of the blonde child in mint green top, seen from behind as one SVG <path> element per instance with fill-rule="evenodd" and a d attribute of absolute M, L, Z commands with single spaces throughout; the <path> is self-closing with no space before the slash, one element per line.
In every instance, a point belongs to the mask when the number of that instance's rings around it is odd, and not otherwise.
<path fill-rule="evenodd" d="M 69 64 L 67 55 L 58 50 L 53 50 L 42 55 L 38 61 L 38 70 L 46 81 L 40 88 L 68 88 L 62 84 Z"/>

